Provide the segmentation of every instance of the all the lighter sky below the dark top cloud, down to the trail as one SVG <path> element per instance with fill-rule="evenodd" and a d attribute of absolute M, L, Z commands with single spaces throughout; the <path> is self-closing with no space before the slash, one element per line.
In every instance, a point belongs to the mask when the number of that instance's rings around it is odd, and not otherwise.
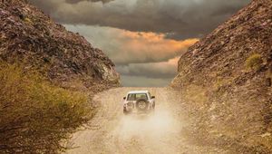
<path fill-rule="evenodd" d="M 110 27 L 66 25 L 95 44 L 112 59 L 125 86 L 165 85 L 177 73 L 180 55 L 199 41 L 171 40 L 165 34 L 135 33 Z"/>

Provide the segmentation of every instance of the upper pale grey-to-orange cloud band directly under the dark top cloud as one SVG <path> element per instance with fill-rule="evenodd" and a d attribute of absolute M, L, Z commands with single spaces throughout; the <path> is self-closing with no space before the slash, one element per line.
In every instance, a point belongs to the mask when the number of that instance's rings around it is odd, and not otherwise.
<path fill-rule="evenodd" d="M 135 33 L 111 27 L 65 25 L 83 34 L 95 47 L 101 48 L 117 65 L 130 63 L 160 63 L 180 56 L 197 39 L 175 41 L 164 34 Z"/>

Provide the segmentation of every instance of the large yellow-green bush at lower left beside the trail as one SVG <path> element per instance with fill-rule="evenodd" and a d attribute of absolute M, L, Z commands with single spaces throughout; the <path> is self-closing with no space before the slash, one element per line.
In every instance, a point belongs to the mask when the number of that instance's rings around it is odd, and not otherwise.
<path fill-rule="evenodd" d="M 91 118 L 87 95 L 0 63 L 0 153 L 56 153 Z"/>

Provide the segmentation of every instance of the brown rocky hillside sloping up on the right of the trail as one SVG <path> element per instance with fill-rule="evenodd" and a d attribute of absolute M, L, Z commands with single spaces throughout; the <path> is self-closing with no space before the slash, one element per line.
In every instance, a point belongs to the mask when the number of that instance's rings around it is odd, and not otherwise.
<path fill-rule="evenodd" d="M 171 85 L 202 130 L 272 152 L 271 78 L 272 1 L 253 0 L 181 56 Z"/>

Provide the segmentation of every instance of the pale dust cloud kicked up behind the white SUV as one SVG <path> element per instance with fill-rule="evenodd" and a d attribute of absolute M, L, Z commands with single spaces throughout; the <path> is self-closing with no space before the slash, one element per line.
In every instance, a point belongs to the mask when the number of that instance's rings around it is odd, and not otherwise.
<path fill-rule="evenodd" d="M 174 120 L 170 112 L 164 110 L 160 109 L 151 114 L 123 116 L 117 131 L 120 131 L 125 139 L 145 136 L 154 140 L 169 133 L 177 133 L 180 130 L 179 121 Z"/>

